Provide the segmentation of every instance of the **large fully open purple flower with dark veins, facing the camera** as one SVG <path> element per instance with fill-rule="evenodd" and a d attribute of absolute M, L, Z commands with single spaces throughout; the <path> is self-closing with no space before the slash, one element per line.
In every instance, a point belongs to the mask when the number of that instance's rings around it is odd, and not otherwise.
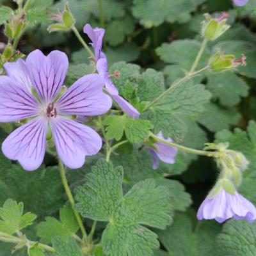
<path fill-rule="evenodd" d="M 81 77 L 59 98 L 68 68 L 64 52 L 52 51 L 44 56 L 36 50 L 26 62 L 6 63 L 4 68 L 8 76 L 0 77 L 0 122 L 29 118 L 4 140 L 6 157 L 18 160 L 25 170 L 36 170 L 44 160 L 48 129 L 58 156 L 69 168 L 80 168 L 85 156 L 99 152 L 99 134 L 72 120 L 73 115 L 102 115 L 111 108 L 98 74 Z"/>

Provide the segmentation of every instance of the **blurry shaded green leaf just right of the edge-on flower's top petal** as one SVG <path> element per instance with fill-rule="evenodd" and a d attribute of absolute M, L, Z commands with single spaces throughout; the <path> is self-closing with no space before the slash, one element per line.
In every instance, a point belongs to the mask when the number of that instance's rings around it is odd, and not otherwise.
<path fill-rule="evenodd" d="M 109 42 L 109 45 L 116 46 L 122 44 L 125 40 L 125 36 L 131 34 L 133 31 L 134 21 L 131 17 L 125 16 L 122 20 L 113 20 L 108 24 L 105 40 Z"/>

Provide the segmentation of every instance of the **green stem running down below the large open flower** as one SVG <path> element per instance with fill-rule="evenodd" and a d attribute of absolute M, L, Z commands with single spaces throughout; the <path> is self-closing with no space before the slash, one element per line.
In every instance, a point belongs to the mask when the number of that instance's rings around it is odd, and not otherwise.
<path fill-rule="evenodd" d="M 66 177 L 66 173 L 65 173 L 65 168 L 64 168 L 64 165 L 63 165 L 63 163 L 61 162 L 60 159 L 59 159 L 59 168 L 60 168 L 61 180 L 62 180 L 63 186 L 65 188 L 65 191 L 67 193 L 68 200 L 69 200 L 70 204 L 72 205 L 72 209 L 73 209 L 74 214 L 76 216 L 76 220 L 77 220 L 77 223 L 78 223 L 78 225 L 81 229 L 83 237 L 84 237 L 84 239 L 86 239 L 87 238 L 86 230 L 84 228 L 83 221 L 81 219 L 81 216 L 80 216 L 79 212 L 77 212 L 76 209 L 74 209 L 75 200 L 74 200 L 74 197 L 72 196 L 72 193 L 71 193 L 70 188 L 68 186 L 68 181 L 67 181 L 67 177 Z"/>

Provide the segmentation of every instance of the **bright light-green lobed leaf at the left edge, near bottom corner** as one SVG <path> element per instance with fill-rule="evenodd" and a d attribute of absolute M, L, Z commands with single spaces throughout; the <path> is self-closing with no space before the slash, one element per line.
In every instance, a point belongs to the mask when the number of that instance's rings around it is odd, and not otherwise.
<path fill-rule="evenodd" d="M 36 215 L 27 212 L 23 215 L 23 203 L 17 204 L 12 199 L 6 200 L 3 207 L 0 208 L 0 231 L 13 234 L 22 228 L 33 224 Z"/>

